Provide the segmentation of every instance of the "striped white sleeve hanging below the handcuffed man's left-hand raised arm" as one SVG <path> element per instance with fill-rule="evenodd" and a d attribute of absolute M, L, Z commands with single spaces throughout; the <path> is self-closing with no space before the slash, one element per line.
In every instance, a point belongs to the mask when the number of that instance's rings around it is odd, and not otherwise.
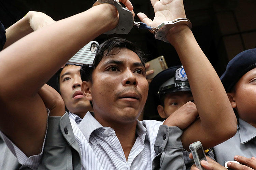
<path fill-rule="evenodd" d="M 49 117 L 49 109 L 47 109 L 47 115 Z M 6 146 L 10 149 L 10 151 L 13 153 L 13 155 L 18 159 L 18 162 L 22 165 L 25 165 L 31 169 L 37 169 L 41 159 L 42 159 L 42 154 L 44 150 L 44 143 L 45 143 L 45 138 L 47 134 L 47 129 L 48 129 L 48 118 L 47 118 L 47 126 L 46 126 L 46 133 L 44 136 L 44 142 L 42 146 L 42 151 L 38 155 L 32 155 L 27 157 L 24 152 L 22 152 L 8 137 L 6 137 L 1 131 L 0 131 L 0 137 L 3 139 L 5 142 Z"/>

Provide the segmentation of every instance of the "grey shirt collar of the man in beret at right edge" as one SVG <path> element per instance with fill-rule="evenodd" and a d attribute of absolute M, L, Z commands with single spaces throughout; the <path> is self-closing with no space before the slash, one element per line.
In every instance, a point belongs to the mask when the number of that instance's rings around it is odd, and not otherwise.
<path fill-rule="evenodd" d="M 256 137 L 255 127 L 240 118 L 238 132 L 241 144 L 244 144 Z"/>

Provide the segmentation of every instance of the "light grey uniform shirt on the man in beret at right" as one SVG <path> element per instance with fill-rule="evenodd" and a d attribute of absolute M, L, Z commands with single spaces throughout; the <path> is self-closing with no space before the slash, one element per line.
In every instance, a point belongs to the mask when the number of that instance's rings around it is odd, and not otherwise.
<path fill-rule="evenodd" d="M 215 159 L 222 166 L 225 160 L 234 160 L 235 155 L 256 156 L 256 128 L 240 118 L 239 123 L 236 135 L 213 148 Z"/>

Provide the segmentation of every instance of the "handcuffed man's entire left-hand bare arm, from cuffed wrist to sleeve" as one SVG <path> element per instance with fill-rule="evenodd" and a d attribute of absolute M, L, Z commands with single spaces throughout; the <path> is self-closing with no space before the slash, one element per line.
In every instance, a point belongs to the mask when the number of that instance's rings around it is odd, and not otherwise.
<path fill-rule="evenodd" d="M 123 2 L 132 10 L 129 0 Z M 100 4 L 34 31 L 0 52 L 0 130 L 27 156 L 41 152 L 46 132 L 47 112 L 39 89 L 79 49 L 117 23 L 116 8 Z"/>

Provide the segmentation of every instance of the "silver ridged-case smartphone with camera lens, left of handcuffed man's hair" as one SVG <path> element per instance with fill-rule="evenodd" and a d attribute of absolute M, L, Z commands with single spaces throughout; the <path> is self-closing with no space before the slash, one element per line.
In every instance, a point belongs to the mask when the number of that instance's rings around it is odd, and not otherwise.
<path fill-rule="evenodd" d="M 67 64 L 73 64 L 77 66 L 87 64 L 92 66 L 98 49 L 99 43 L 97 41 L 90 41 L 90 43 L 86 44 L 72 58 L 70 58 Z"/>

